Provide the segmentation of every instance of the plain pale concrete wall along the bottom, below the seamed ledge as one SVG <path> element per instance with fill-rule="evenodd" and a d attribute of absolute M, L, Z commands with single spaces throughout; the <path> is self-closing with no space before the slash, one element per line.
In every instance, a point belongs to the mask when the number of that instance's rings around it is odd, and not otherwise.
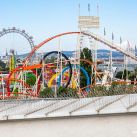
<path fill-rule="evenodd" d="M 0 137 L 137 137 L 137 115 L 3 121 Z"/>

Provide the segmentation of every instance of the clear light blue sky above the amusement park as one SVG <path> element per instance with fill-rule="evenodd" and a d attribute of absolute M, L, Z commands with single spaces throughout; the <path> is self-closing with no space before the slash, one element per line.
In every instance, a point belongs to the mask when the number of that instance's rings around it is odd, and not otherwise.
<path fill-rule="evenodd" d="M 88 4 L 90 15 L 96 16 L 98 4 L 99 35 L 103 35 L 105 27 L 108 40 L 111 40 L 113 32 L 116 43 L 122 37 L 123 41 L 129 40 L 132 47 L 137 44 L 137 0 L 0 0 L 0 30 L 14 26 L 24 29 L 33 36 L 37 45 L 58 33 L 78 31 L 79 4 L 81 16 L 89 15 Z M 59 43 L 63 50 L 74 50 L 74 41 L 74 36 L 61 38 L 45 45 L 40 51 L 56 50 Z M 0 38 L 0 55 L 11 48 L 19 53 L 30 51 L 27 40 L 19 34 Z"/>

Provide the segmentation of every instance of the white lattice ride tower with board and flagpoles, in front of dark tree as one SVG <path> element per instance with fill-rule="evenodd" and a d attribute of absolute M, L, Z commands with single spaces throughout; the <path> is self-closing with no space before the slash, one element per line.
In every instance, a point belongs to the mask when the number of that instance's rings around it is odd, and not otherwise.
<path fill-rule="evenodd" d="M 81 35 L 79 35 L 79 41 L 78 41 L 78 46 L 77 46 L 77 58 L 79 58 L 79 64 L 80 64 L 80 53 L 81 51 L 87 47 L 91 51 L 91 56 L 92 56 L 92 65 L 91 65 L 91 74 L 90 75 L 90 83 L 91 84 L 96 84 L 97 82 L 97 77 L 96 77 L 96 70 L 97 70 L 97 46 L 98 43 L 95 39 L 93 39 L 90 36 L 85 36 L 83 33 L 93 33 L 95 32 L 98 34 L 100 28 L 100 18 L 99 18 L 99 7 L 97 4 L 97 15 L 92 15 L 91 14 L 91 7 L 90 4 L 88 4 L 88 15 L 83 16 L 81 15 L 81 7 L 79 4 L 79 16 L 78 16 L 78 29 L 81 32 Z M 86 60 L 87 58 L 84 55 L 84 59 Z M 88 59 L 87 59 L 88 60 Z M 80 79 L 80 78 L 79 78 Z M 93 80 L 94 79 L 94 80 Z M 80 80 L 79 80 L 79 85 Z"/>

